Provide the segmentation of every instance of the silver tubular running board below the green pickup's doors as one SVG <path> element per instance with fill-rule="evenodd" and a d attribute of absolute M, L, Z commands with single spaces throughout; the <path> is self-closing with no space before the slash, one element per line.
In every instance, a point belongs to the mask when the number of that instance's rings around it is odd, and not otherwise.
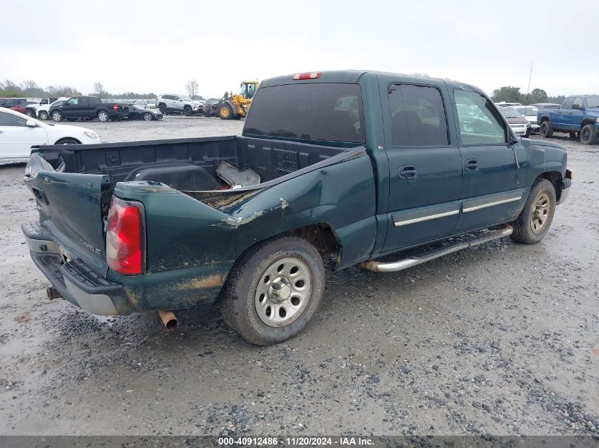
<path fill-rule="evenodd" d="M 472 246 L 478 246 L 478 244 L 487 243 L 488 241 L 493 241 L 495 239 L 503 238 L 504 236 L 509 236 L 512 234 L 513 231 L 514 229 L 512 228 L 512 226 L 506 225 L 505 227 L 503 227 L 503 229 L 491 230 L 488 232 L 488 234 L 474 236 L 470 239 L 459 241 L 459 243 L 450 244 L 449 246 L 445 246 L 444 248 L 437 249 L 436 251 L 425 252 L 418 255 L 411 255 L 408 258 L 404 258 L 403 260 L 399 261 L 393 261 L 392 263 L 383 263 L 372 260 L 362 261 L 362 263 L 358 264 L 358 267 L 366 270 L 371 270 L 373 272 L 396 272 L 398 270 L 411 268 L 412 266 L 420 265 L 421 263 L 434 260 L 435 258 L 442 257 L 443 255 L 447 255 L 449 253 L 454 253 Z"/>

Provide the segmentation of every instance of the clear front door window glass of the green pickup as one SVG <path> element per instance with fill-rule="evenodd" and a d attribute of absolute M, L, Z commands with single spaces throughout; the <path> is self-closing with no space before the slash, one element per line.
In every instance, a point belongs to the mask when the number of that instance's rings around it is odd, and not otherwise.
<path fill-rule="evenodd" d="M 505 144 L 508 130 L 497 108 L 478 92 L 454 90 L 464 145 Z"/>

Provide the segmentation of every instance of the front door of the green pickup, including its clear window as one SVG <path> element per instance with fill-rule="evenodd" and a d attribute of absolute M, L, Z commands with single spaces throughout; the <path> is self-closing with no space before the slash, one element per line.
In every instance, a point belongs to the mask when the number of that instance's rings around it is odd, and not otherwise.
<path fill-rule="evenodd" d="M 457 233 L 462 233 L 515 217 L 526 200 L 527 153 L 491 100 L 461 88 L 453 93 L 463 159 L 462 209 L 457 225 Z M 466 116 L 464 106 L 474 115 Z"/>

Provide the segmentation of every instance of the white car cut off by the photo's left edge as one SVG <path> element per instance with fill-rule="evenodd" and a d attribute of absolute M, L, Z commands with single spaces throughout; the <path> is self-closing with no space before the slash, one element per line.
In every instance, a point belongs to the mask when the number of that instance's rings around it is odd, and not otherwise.
<path fill-rule="evenodd" d="M 96 132 L 79 126 L 40 122 L 14 110 L 0 108 L 0 159 L 27 159 L 40 144 L 100 143 Z"/>

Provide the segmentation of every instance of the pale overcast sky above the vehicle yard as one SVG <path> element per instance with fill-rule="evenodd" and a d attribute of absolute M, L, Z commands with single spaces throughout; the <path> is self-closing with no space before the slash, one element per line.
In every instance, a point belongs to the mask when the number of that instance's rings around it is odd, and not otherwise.
<path fill-rule="evenodd" d="M 197 79 L 220 97 L 242 79 L 327 69 L 526 92 L 531 61 L 531 89 L 599 91 L 594 1 L 0 1 L 0 17 L 1 80 L 83 93 L 94 81 L 184 93 Z"/>

